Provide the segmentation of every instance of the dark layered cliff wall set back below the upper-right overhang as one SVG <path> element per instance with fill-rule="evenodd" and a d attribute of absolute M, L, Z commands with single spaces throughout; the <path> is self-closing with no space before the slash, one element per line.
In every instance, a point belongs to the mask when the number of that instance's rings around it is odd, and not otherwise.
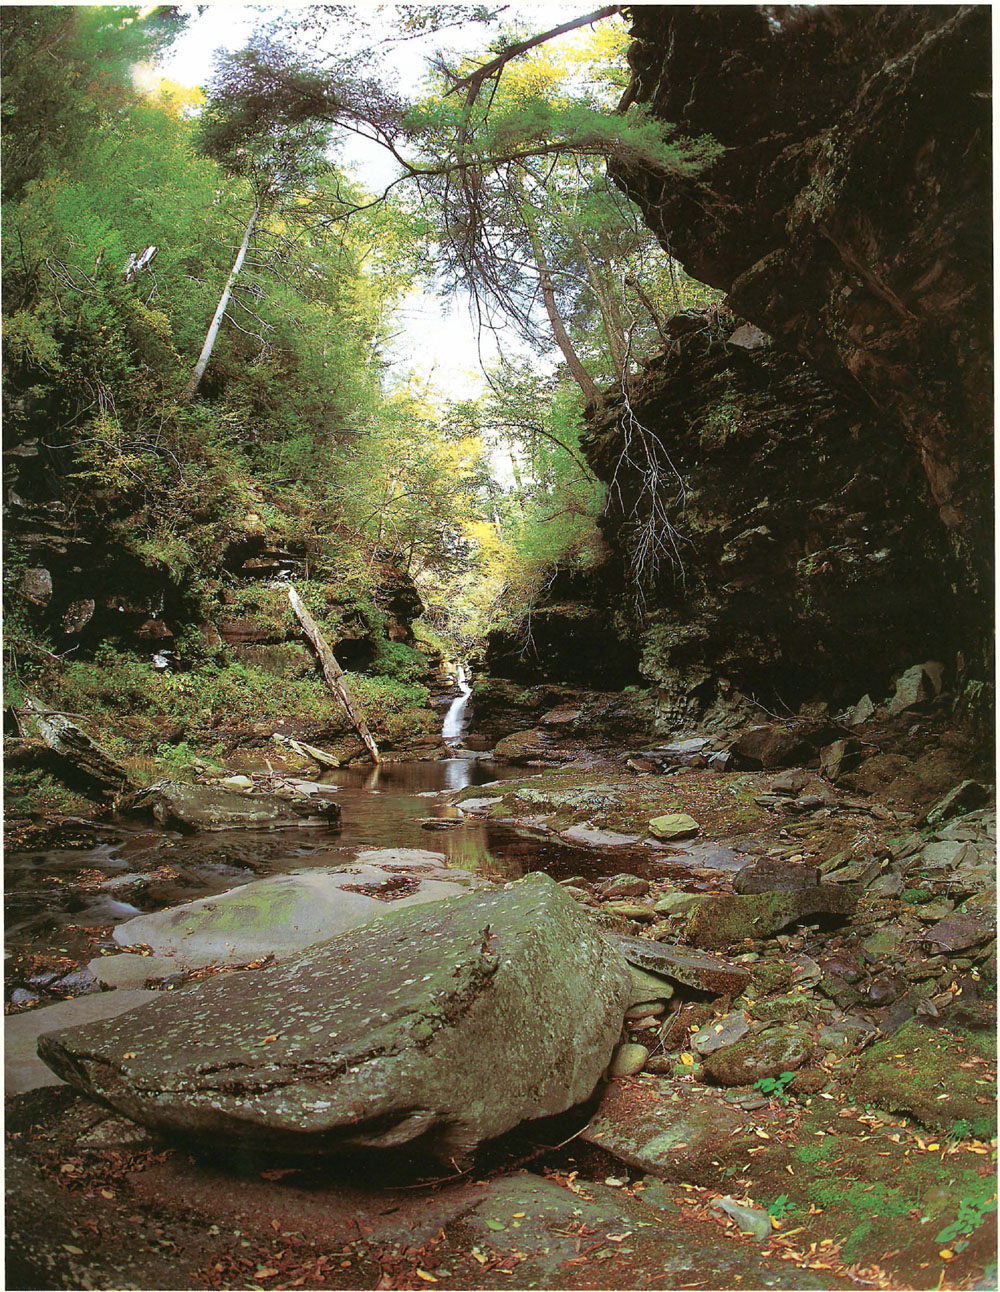
<path fill-rule="evenodd" d="M 795 355 L 733 333 L 678 339 L 630 401 L 686 484 L 640 638 L 665 729 L 731 709 L 736 691 L 793 708 L 881 696 L 894 672 L 952 660 L 963 642 L 941 612 L 946 534 L 902 433 Z M 618 482 L 605 534 L 624 578 L 650 499 L 621 460 L 623 412 L 609 407 L 584 450 Z"/>

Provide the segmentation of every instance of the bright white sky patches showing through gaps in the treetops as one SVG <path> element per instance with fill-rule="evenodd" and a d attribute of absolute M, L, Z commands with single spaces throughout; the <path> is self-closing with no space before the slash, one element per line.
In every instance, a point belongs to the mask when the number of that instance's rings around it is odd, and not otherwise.
<path fill-rule="evenodd" d="M 187 28 L 171 47 L 158 71 L 182 85 L 204 84 L 211 76 L 218 50 L 240 49 L 255 27 L 283 8 L 295 6 L 217 3 L 203 6 L 200 14 L 195 6 L 185 6 L 185 12 L 190 13 Z M 354 8 L 370 16 L 373 5 L 358 4 Z M 532 31 L 547 31 L 578 17 L 580 9 L 579 4 L 512 4 L 504 18 L 523 19 Z M 472 23 L 444 31 L 441 36 L 401 44 L 390 57 L 399 88 L 406 93 L 419 85 L 425 70 L 424 59 L 435 45 L 472 54 L 484 49 L 490 36 L 491 28 Z M 366 145 L 355 136 L 349 137 L 340 156 L 375 191 L 395 173 L 394 164 L 382 149 Z M 442 395 L 457 399 L 473 398 L 486 389 L 479 370 L 479 349 L 483 359 L 490 363 L 497 355 L 496 340 L 488 332 L 477 337 L 468 301 L 448 305 L 433 295 L 412 292 L 403 301 L 399 324 L 399 336 L 389 348 L 391 376 L 395 380 L 404 381 L 412 373 L 421 384 L 429 382 L 432 391 L 437 389 Z M 504 337 L 504 349 L 525 353 L 523 346 L 509 333 Z"/>

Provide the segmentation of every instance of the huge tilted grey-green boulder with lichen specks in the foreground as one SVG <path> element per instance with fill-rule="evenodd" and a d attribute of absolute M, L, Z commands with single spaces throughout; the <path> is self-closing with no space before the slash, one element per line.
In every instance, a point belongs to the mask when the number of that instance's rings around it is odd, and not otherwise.
<path fill-rule="evenodd" d="M 447 1160 L 587 1099 L 629 994 L 619 952 L 534 873 L 44 1036 L 39 1054 L 203 1143 L 322 1154 L 420 1137 Z"/>

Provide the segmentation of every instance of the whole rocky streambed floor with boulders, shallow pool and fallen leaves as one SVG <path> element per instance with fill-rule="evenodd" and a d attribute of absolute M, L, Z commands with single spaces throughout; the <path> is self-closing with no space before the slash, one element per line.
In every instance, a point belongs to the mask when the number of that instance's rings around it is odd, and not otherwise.
<path fill-rule="evenodd" d="M 988 791 L 709 745 L 65 850 L 123 910 L 19 933 L 9 1286 L 991 1286 Z"/>

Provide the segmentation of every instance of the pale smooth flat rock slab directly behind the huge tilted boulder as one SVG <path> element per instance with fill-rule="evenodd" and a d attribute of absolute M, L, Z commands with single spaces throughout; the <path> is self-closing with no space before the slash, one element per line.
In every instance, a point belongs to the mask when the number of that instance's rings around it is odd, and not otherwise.
<path fill-rule="evenodd" d="M 114 938 L 123 947 L 145 946 L 169 956 L 178 970 L 242 965 L 267 955 L 280 960 L 388 911 L 457 897 L 475 884 L 468 871 L 447 870 L 437 853 L 385 849 L 375 855 L 384 863 L 359 859 L 357 866 L 271 875 L 217 897 L 138 915 L 119 924 Z"/>

